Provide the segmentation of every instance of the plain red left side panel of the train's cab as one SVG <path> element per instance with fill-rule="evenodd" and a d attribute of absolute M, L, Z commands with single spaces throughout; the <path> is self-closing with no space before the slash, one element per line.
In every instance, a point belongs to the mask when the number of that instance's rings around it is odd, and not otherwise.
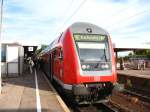
<path fill-rule="evenodd" d="M 74 40 L 71 36 L 72 35 L 68 29 L 63 40 L 63 76 L 64 83 L 67 84 L 77 83 L 77 70 L 79 70 Z"/>

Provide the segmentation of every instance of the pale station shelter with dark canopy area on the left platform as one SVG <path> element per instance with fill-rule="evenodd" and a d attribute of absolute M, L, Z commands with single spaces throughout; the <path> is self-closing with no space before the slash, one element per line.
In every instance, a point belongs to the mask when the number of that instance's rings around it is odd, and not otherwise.
<path fill-rule="evenodd" d="M 1 44 L 1 74 L 2 77 L 19 76 L 23 73 L 24 60 L 32 57 L 37 46 L 21 45 L 19 43 Z"/>

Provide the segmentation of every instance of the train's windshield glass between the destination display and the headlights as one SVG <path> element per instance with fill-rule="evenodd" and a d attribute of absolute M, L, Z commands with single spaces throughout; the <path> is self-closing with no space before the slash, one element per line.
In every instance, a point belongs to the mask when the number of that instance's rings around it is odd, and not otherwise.
<path fill-rule="evenodd" d="M 101 61 L 110 60 L 108 45 L 96 42 L 77 42 L 78 52 L 81 61 Z"/>

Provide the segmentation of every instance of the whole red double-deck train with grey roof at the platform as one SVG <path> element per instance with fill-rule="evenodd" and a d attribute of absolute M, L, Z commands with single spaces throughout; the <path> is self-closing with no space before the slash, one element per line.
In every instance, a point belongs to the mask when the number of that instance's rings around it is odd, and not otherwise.
<path fill-rule="evenodd" d="M 116 82 L 110 36 L 89 23 L 74 23 L 41 52 L 43 68 L 79 103 L 102 101 Z"/>

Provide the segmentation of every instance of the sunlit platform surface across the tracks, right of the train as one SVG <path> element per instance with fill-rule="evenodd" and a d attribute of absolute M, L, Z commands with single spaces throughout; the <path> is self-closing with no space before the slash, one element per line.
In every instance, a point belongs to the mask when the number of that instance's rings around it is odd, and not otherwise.
<path fill-rule="evenodd" d="M 150 79 L 150 68 L 145 70 L 117 70 L 117 74 Z"/>

